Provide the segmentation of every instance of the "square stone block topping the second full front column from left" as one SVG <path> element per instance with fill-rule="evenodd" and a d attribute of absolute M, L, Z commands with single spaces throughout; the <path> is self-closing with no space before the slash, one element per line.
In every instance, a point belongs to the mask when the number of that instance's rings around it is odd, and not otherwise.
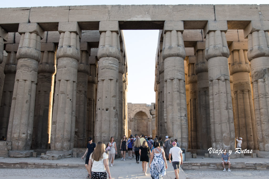
<path fill-rule="evenodd" d="M 75 32 L 81 38 L 81 29 L 77 22 L 59 22 L 58 31 L 59 33 Z"/>

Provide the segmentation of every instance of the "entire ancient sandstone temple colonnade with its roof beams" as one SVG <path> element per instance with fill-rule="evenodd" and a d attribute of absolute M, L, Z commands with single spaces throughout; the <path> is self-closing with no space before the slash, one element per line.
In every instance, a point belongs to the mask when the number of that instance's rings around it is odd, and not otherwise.
<path fill-rule="evenodd" d="M 243 149 L 268 152 L 268 9 L 0 8 L 0 136 L 7 139 L 0 156 L 10 150 L 72 151 L 85 148 L 89 136 L 105 142 L 128 134 L 122 30 L 160 30 L 155 122 L 148 120 L 148 133 L 200 150 L 234 150 L 235 137 L 242 136 Z"/>

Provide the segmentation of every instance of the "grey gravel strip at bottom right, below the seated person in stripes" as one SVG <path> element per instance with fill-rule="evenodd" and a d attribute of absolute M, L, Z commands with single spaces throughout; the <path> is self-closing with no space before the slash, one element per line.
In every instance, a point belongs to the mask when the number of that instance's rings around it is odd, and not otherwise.
<path fill-rule="evenodd" d="M 231 172 L 208 171 L 208 170 L 185 170 L 184 172 L 189 179 L 269 178 L 269 170 L 232 170 Z"/>

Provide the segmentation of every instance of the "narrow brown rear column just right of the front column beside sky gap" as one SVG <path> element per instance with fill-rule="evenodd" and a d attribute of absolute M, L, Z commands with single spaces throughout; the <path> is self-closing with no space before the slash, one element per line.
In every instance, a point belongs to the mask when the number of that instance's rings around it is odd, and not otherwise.
<path fill-rule="evenodd" d="M 195 56 L 187 57 L 187 83 L 189 85 L 189 112 L 190 119 L 188 125 L 190 126 L 190 132 L 192 133 L 192 145 L 191 149 L 200 149 L 198 143 L 198 100 L 197 100 L 197 75 L 195 74 Z"/>

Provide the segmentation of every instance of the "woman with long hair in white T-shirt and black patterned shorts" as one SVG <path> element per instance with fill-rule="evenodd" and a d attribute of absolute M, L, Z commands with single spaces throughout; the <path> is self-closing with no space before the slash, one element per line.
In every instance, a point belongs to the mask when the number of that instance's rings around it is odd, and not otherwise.
<path fill-rule="evenodd" d="M 91 166 L 93 165 L 93 166 Z M 111 179 L 109 166 L 108 166 L 108 155 L 105 153 L 104 143 L 98 142 L 95 150 L 91 153 L 89 159 L 89 171 L 91 179 Z M 107 170 L 107 173 L 105 172 Z"/>

